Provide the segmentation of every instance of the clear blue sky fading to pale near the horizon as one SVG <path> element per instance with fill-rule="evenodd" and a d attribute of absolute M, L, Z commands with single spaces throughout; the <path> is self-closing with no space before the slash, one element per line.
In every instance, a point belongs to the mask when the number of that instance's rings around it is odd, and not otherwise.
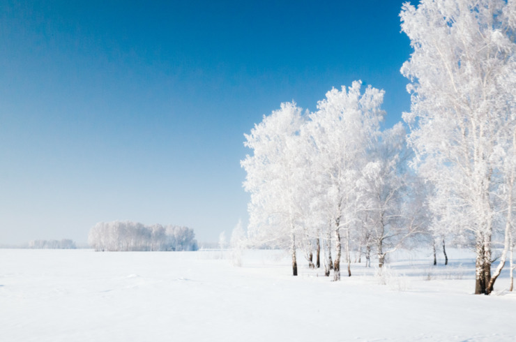
<path fill-rule="evenodd" d="M 248 220 L 264 114 L 353 80 L 410 98 L 403 1 L 1 1 L 0 244 L 86 242 L 99 221 Z"/>

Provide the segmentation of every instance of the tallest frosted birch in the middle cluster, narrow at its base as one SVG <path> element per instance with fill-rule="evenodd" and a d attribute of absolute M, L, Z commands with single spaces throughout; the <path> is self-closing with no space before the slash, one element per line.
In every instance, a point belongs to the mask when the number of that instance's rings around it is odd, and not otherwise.
<path fill-rule="evenodd" d="M 356 205 L 360 198 L 357 181 L 367 163 L 367 151 L 377 138 L 384 112 L 380 109 L 384 91 L 367 87 L 361 94 L 361 82 L 348 89 L 332 89 L 319 101 L 317 112 L 310 114 L 309 131 L 317 167 L 319 208 L 333 233 L 334 280 L 340 280 L 341 237 L 345 235 L 347 260 L 351 228 L 356 224 Z M 351 271 L 348 267 L 349 275 Z"/>

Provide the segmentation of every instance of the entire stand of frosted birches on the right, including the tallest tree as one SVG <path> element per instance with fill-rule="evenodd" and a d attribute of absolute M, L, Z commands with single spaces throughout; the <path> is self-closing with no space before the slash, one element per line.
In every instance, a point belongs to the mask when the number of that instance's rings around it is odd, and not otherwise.
<path fill-rule="evenodd" d="M 380 131 L 384 92 L 361 82 L 329 91 L 317 112 L 282 104 L 245 135 L 248 235 L 288 249 L 294 275 L 296 249 L 312 267 L 322 248 L 335 281 L 341 256 L 351 276 L 351 248 L 381 267 L 403 244 L 430 240 L 446 258 L 446 239 L 465 241 L 475 293 L 489 295 L 508 258 L 511 279 L 515 268 L 516 1 L 405 3 L 400 17 L 414 50 L 401 70 L 407 139 L 402 124 Z"/>

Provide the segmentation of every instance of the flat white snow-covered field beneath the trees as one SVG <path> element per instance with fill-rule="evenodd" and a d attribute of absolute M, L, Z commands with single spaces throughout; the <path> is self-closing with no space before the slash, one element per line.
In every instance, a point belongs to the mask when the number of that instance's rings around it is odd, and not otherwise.
<path fill-rule="evenodd" d="M 1 341 L 516 341 L 502 274 L 473 292 L 471 255 L 398 253 L 342 281 L 280 251 L 0 250 Z M 422 258 L 422 256 L 424 258 Z M 440 260 L 441 261 L 441 260 Z M 384 284 L 382 284 L 384 283 Z"/>

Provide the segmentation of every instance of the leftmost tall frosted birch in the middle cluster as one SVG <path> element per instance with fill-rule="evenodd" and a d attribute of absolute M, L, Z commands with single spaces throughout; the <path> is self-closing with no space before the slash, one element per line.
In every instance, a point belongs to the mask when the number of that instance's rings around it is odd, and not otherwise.
<path fill-rule="evenodd" d="M 255 244 L 273 244 L 288 249 L 292 257 L 292 273 L 297 275 L 296 237 L 301 230 L 303 198 L 300 186 L 303 164 L 300 158 L 301 108 L 283 103 L 251 133 L 245 135 L 246 147 L 252 156 L 241 161 L 247 172 L 245 191 L 251 194 L 248 205 L 248 235 Z"/>

